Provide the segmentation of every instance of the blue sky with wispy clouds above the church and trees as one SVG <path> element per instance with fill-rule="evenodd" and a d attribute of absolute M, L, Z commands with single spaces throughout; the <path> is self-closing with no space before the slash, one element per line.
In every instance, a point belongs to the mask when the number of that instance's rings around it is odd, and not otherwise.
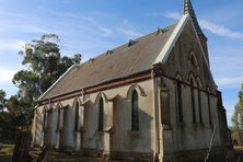
<path fill-rule="evenodd" d="M 193 0 L 208 37 L 212 74 L 223 93 L 228 119 L 243 83 L 243 1 Z M 46 33 L 61 39 L 61 54 L 83 59 L 177 21 L 183 0 L 0 0 L 0 89 L 15 94 L 18 51 Z"/>

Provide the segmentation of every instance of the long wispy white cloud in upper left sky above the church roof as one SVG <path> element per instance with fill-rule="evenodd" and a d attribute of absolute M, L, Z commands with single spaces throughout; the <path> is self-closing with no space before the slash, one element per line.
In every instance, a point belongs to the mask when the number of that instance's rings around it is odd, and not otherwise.
<path fill-rule="evenodd" d="M 89 32 L 92 31 L 92 34 L 99 34 L 101 36 L 117 36 L 123 34 L 123 36 L 135 37 L 141 36 L 139 32 L 134 30 L 134 25 L 130 24 L 127 20 L 123 20 L 115 15 L 106 14 L 106 13 L 78 13 L 78 12 L 55 12 L 49 11 L 47 9 L 43 9 L 45 12 L 48 12 L 53 15 L 56 15 L 61 19 L 73 19 L 73 20 L 81 20 L 83 23 L 78 27 L 88 27 Z M 105 20 L 106 23 L 103 23 Z"/>

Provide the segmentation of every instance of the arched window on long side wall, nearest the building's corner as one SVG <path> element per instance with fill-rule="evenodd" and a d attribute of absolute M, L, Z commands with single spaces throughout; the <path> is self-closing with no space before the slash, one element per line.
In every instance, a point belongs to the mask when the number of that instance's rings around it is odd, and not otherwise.
<path fill-rule="evenodd" d="M 131 94 L 131 130 L 139 130 L 138 93 L 136 90 Z"/>

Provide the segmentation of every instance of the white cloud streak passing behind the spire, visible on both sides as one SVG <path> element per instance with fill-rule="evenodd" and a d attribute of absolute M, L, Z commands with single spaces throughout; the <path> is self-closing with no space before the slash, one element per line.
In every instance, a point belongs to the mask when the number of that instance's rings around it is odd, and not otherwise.
<path fill-rule="evenodd" d="M 159 15 L 159 13 L 157 15 Z M 164 13 L 164 16 L 169 19 L 178 20 L 182 16 L 182 14 L 180 14 L 178 12 L 166 12 Z M 243 33 L 241 32 L 232 31 L 223 25 L 219 25 L 207 20 L 198 20 L 198 22 L 204 30 L 207 30 L 211 32 L 212 34 L 216 34 L 219 36 L 227 36 L 230 38 L 243 39 Z"/>

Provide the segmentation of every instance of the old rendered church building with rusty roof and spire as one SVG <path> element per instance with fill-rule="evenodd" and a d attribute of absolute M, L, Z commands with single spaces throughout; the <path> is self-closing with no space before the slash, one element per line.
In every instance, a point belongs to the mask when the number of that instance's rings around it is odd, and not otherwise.
<path fill-rule="evenodd" d="M 225 155 L 225 109 L 190 0 L 177 23 L 70 67 L 38 99 L 33 143 L 106 160 Z"/>

